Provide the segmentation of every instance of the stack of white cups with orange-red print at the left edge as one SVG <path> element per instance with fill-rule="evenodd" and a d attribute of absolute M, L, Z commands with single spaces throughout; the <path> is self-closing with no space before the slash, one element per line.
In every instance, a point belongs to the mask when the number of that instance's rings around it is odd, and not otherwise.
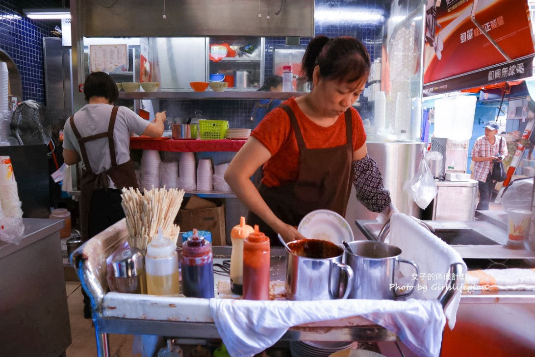
<path fill-rule="evenodd" d="M 11 158 L 0 156 L 0 218 L 19 216 L 22 217 L 22 203 L 19 200 L 17 181 L 13 173 Z"/>

